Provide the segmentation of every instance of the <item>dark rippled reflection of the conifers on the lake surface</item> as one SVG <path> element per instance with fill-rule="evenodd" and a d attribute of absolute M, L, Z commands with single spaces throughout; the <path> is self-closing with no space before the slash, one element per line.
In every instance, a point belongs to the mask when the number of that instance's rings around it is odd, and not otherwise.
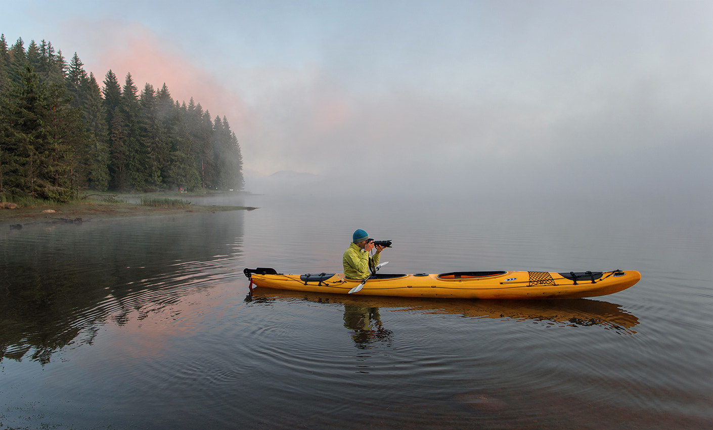
<path fill-rule="evenodd" d="M 48 363 L 68 344 L 91 344 L 100 324 L 145 317 L 173 297 L 151 297 L 235 255 L 242 212 L 27 226 L 0 247 L 0 361 Z M 200 245 L 200 246 L 198 246 Z"/>

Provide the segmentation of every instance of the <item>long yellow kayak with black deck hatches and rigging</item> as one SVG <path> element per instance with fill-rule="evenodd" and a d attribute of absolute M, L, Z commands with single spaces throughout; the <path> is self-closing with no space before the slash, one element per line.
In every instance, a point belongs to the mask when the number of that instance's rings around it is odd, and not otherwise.
<path fill-rule="evenodd" d="M 577 299 L 609 295 L 639 282 L 636 270 L 610 272 L 448 272 L 390 275 L 376 273 L 366 282 L 339 273 L 286 275 L 270 267 L 243 270 L 252 286 L 277 290 L 391 297 L 452 299 Z M 359 285 L 364 282 L 361 289 Z M 356 287 L 356 288 L 355 288 Z"/>

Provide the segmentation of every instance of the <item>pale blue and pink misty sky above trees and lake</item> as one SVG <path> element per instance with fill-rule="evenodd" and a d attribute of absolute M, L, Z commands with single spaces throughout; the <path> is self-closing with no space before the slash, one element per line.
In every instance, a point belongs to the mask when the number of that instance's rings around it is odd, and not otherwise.
<path fill-rule="evenodd" d="M 713 0 L 0 0 L 98 82 L 168 86 L 247 190 L 713 195 Z M 287 183 L 281 182 L 286 180 Z M 314 185 L 316 186 L 316 185 Z"/>

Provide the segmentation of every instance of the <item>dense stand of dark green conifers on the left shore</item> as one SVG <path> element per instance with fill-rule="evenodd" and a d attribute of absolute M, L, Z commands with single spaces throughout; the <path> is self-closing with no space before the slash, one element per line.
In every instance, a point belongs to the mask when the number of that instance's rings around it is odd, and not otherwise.
<path fill-rule="evenodd" d="M 242 190 L 227 118 L 165 83 L 141 91 L 109 70 L 100 88 L 76 53 L 0 37 L 0 196 L 67 201 L 82 190 Z"/>

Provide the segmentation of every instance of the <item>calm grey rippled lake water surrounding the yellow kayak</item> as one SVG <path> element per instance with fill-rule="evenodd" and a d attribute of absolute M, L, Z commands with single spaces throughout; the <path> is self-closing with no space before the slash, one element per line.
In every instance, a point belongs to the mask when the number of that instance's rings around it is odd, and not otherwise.
<path fill-rule="evenodd" d="M 253 211 L 0 230 L 0 429 L 711 429 L 710 200 L 216 197 Z M 245 267 L 639 270 L 615 295 L 256 290 Z"/>

